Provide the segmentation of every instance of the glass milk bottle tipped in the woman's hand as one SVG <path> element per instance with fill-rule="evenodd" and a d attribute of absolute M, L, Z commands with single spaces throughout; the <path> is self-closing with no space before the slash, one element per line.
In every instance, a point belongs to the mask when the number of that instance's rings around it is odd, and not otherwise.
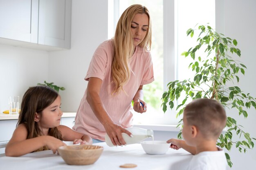
<path fill-rule="evenodd" d="M 133 144 L 133 143 L 140 143 L 141 141 L 147 138 L 154 137 L 153 130 L 147 130 L 147 129 L 137 128 L 137 127 L 126 128 L 126 130 L 130 131 L 133 136 L 133 137 L 130 137 L 128 134 L 122 133 L 122 136 L 124 138 L 124 141 L 126 142 L 126 145 Z M 108 134 L 105 135 L 105 141 L 108 146 L 115 146 L 111 142 Z"/>

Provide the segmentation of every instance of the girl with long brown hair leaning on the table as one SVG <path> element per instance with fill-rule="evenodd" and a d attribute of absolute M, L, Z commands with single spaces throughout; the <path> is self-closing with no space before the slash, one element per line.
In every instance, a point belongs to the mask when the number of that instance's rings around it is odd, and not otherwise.
<path fill-rule="evenodd" d="M 61 97 L 47 86 L 29 87 L 25 92 L 17 128 L 5 148 L 5 155 L 18 157 L 30 152 L 52 150 L 66 145 L 62 141 L 74 144 L 92 144 L 90 136 L 75 132 L 60 125 Z"/>

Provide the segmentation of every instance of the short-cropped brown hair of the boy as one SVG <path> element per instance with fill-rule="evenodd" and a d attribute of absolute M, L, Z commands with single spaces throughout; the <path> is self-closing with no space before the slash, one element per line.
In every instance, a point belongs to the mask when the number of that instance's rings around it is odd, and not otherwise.
<path fill-rule="evenodd" d="M 225 128 L 227 116 L 224 107 L 216 100 L 199 98 L 184 109 L 188 125 L 194 125 L 206 139 L 218 139 Z"/>

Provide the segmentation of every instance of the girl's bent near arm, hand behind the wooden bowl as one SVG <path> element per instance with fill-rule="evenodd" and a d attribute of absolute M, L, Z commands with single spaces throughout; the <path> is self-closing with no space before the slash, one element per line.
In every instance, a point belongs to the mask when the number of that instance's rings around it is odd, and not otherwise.
<path fill-rule="evenodd" d="M 65 145 L 65 143 L 52 136 L 38 136 L 27 139 L 27 128 L 24 124 L 20 124 L 14 130 L 11 140 L 7 143 L 5 155 L 7 157 L 19 157 L 38 150 L 45 145 L 55 153 L 58 147 Z"/>

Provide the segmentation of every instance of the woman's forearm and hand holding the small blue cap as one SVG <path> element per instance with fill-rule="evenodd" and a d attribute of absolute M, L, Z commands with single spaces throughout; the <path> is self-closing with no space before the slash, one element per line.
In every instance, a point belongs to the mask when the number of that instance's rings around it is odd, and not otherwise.
<path fill-rule="evenodd" d="M 147 104 L 142 100 L 143 98 L 143 85 L 140 85 L 138 91 L 133 98 L 133 110 L 135 110 L 135 112 L 144 113 L 147 111 Z"/>

